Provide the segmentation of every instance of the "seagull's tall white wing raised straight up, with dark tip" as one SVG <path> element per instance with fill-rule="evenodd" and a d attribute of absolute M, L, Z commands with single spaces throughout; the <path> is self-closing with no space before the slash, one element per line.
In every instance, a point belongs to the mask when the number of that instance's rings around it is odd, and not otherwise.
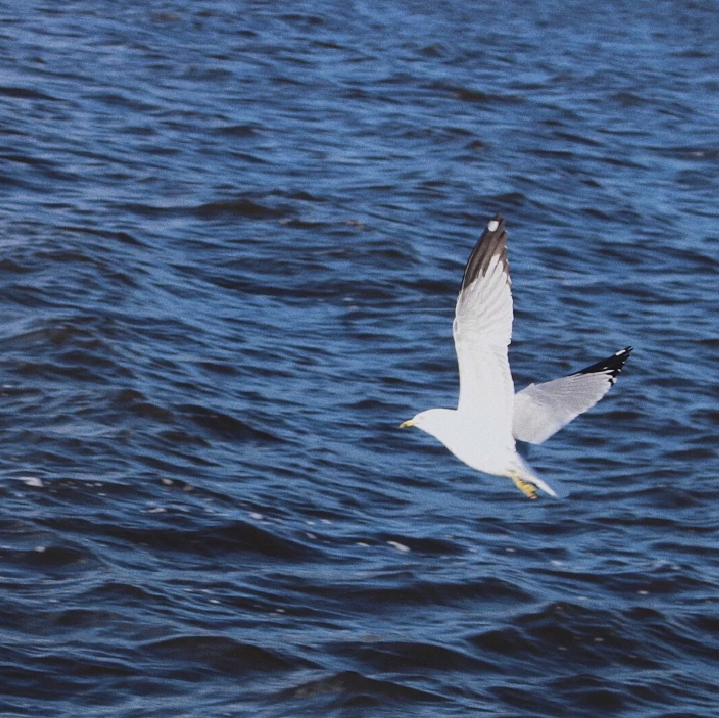
<path fill-rule="evenodd" d="M 454 319 L 459 363 L 457 411 L 483 443 L 514 444 L 514 384 L 507 346 L 512 338 L 512 287 L 507 233 L 501 215 L 491 220 L 464 270 Z"/>

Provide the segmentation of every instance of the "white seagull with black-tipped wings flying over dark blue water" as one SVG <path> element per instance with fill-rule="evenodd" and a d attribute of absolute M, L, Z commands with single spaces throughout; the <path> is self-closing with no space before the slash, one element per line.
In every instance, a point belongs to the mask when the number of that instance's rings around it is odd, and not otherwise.
<path fill-rule="evenodd" d="M 507 356 L 514 313 L 505 224 L 501 214 L 487 224 L 464 270 L 453 325 L 457 408 L 420 412 L 400 428 L 422 429 L 471 468 L 512 479 L 530 499 L 537 489 L 556 497 L 519 455 L 517 441 L 541 444 L 593 407 L 616 382 L 632 347 L 515 393 Z"/>

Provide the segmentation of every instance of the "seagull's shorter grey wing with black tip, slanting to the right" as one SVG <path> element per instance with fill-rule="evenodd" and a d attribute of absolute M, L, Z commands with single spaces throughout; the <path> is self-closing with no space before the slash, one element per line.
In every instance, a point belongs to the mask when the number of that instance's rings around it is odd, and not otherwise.
<path fill-rule="evenodd" d="M 593 407 L 612 387 L 632 347 L 543 384 L 530 384 L 514 396 L 514 438 L 541 444 L 572 419 Z"/>

